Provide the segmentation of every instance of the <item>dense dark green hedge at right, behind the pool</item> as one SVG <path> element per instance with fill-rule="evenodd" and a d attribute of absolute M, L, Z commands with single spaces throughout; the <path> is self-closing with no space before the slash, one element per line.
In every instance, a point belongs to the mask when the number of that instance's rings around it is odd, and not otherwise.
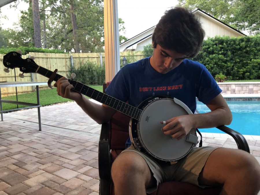
<path fill-rule="evenodd" d="M 260 36 L 208 38 L 192 60 L 204 64 L 213 77 L 222 73 L 227 80 L 260 79 Z"/>

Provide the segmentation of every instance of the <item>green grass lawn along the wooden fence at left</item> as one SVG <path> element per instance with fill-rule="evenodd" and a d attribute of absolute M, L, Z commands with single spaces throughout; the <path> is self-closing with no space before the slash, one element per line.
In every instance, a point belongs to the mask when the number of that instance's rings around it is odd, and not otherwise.
<path fill-rule="evenodd" d="M 103 86 L 91 86 L 90 85 L 90 87 L 103 92 Z M 39 90 L 39 96 L 40 96 L 40 105 L 42 105 L 42 106 L 72 101 L 72 100 L 59 96 L 57 94 L 56 88 L 47 89 L 47 90 Z M 16 95 L 2 97 L 2 99 L 16 101 Z M 36 91 L 30 92 L 30 93 L 18 94 L 17 99 L 20 102 L 37 103 Z M 10 110 L 10 109 L 17 108 L 16 104 L 10 104 L 10 103 L 4 103 L 4 102 L 2 103 L 2 106 L 3 106 L 3 110 Z M 27 107 L 27 106 L 18 105 L 18 108 L 24 108 L 24 107 Z"/>

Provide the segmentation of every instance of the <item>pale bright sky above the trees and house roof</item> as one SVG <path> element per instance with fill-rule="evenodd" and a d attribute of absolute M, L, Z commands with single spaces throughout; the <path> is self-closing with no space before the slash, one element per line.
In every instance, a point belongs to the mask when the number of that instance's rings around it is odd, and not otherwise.
<path fill-rule="evenodd" d="M 155 26 L 167 9 L 178 4 L 178 0 L 118 0 L 117 4 L 118 17 L 125 22 L 124 36 L 132 38 Z M 19 9 L 27 10 L 28 7 L 27 3 L 20 0 Z M 10 9 L 10 4 L 8 4 L 1 8 L 1 12 L 1 27 L 12 28 L 12 24 L 18 21 L 20 11 Z M 8 19 L 2 18 L 3 15 L 6 15 Z"/>

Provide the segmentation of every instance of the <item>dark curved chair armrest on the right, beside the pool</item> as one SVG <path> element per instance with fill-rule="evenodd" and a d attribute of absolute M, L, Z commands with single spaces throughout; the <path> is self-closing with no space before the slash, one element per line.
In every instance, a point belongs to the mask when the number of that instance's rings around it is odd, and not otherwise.
<path fill-rule="evenodd" d="M 229 127 L 226 127 L 224 125 L 216 127 L 216 128 L 223 131 L 224 133 L 229 134 L 235 140 L 235 142 L 237 143 L 238 149 L 241 149 L 241 150 L 244 150 L 244 151 L 250 153 L 248 143 L 241 133 L 239 133 L 239 132 L 237 132 L 237 131 L 229 128 Z"/>

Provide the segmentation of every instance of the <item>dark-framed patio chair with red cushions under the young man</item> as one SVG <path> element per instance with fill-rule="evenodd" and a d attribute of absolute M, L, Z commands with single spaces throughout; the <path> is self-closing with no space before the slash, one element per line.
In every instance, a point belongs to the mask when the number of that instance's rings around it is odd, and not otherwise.
<path fill-rule="evenodd" d="M 106 87 L 107 84 L 105 83 L 103 85 L 104 92 Z M 116 112 L 109 122 L 102 124 L 99 139 L 99 194 L 101 195 L 114 194 L 114 185 L 111 179 L 111 165 L 117 155 L 125 149 L 125 142 L 129 137 L 129 120 L 130 118 L 128 116 Z M 236 141 L 238 149 L 250 153 L 248 143 L 243 135 L 226 126 L 217 128 L 231 135 Z M 203 189 L 190 183 L 172 181 L 161 183 L 152 195 L 215 195 L 219 194 L 221 189 L 221 187 L 208 187 Z"/>

